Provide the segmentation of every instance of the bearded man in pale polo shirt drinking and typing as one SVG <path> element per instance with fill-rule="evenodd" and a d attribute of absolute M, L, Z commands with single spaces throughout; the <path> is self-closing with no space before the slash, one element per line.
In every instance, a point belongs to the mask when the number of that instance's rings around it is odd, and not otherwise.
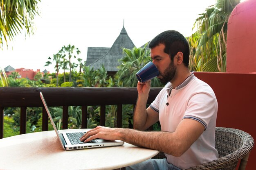
<path fill-rule="evenodd" d="M 103 138 L 159 150 L 167 159 L 150 159 L 131 169 L 184 169 L 218 158 L 215 126 L 216 96 L 209 85 L 189 71 L 189 44 L 177 31 L 164 31 L 149 44 L 150 56 L 166 86 L 146 109 L 150 81 L 137 84 L 134 129 L 98 126 L 81 141 Z M 162 131 L 146 132 L 160 121 Z M 139 130 L 139 131 L 138 131 Z M 88 138 L 90 137 L 90 138 Z M 129 169 L 127 168 L 127 169 Z"/>

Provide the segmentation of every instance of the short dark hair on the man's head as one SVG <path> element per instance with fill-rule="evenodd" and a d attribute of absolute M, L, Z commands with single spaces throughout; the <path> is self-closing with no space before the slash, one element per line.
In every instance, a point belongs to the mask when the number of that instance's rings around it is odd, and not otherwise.
<path fill-rule="evenodd" d="M 186 67 L 189 67 L 189 43 L 181 33 L 175 30 L 164 31 L 152 39 L 148 47 L 154 48 L 159 44 L 164 44 L 164 52 L 169 54 L 171 61 L 173 61 L 177 52 L 182 52 L 183 63 Z"/>

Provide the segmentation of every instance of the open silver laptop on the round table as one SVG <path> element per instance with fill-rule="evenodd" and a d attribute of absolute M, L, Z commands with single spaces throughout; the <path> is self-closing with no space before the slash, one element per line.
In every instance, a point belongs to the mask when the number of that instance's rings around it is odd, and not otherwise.
<path fill-rule="evenodd" d="M 81 142 L 80 137 L 86 133 L 86 131 L 82 129 L 76 129 L 76 131 L 70 129 L 64 130 L 64 132 L 59 132 L 55 126 L 55 123 L 50 114 L 49 108 L 45 102 L 45 98 L 43 97 L 42 92 L 40 92 L 40 97 L 42 99 L 43 105 L 47 111 L 49 119 L 51 120 L 54 131 L 57 134 L 58 140 L 64 150 L 75 150 L 75 149 L 87 149 L 87 148 L 100 148 L 107 146 L 120 146 L 123 145 L 124 142 L 121 140 L 108 141 L 104 139 L 94 139 L 90 142 Z"/>

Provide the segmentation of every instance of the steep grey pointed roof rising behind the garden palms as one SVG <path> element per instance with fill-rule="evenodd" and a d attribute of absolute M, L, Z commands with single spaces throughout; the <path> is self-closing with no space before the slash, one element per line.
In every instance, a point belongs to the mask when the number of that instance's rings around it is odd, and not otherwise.
<path fill-rule="evenodd" d="M 108 52 L 91 63 L 89 66 L 94 68 L 94 70 L 97 70 L 101 67 L 101 65 L 104 65 L 106 71 L 108 72 L 116 72 L 117 66 L 120 65 L 119 59 L 123 57 L 123 49 L 122 48 L 134 48 L 135 45 L 133 44 L 132 40 L 127 34 L 126 29 L 122 28 L 119 36 L 115 40 L 112 47 L 108 50 Z"/>

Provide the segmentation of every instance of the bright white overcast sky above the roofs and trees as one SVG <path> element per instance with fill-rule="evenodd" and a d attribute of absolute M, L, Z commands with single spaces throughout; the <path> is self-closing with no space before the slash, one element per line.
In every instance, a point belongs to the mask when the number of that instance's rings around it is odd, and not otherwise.
<path fill-rule="evenodd" d="M 111 47 L 124 27 L 135 46 L 140 47 L 166 30 L 184 36 L 192 33 L 198 14 L 216 0 L 42 0 L 36 17 L 35 34 L 16 37 L 0 50 L 0 67 L 44 69 L 48 57 L 68 44 L 79 48 L 77 57 L 86 60 L 87 48 Z M 73 59 L 72 62 L 76 62 Z"/>

